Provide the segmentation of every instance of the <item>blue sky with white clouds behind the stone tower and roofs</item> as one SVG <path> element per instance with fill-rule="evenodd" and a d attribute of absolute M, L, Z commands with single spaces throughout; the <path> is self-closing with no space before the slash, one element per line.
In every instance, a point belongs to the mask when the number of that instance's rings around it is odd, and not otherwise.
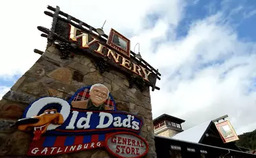
<path fill-rule="evenodd" d="M 140 42 L 143 59 L 159 68 L 153 116 L 186 120 L 184 129 L 228 115 L 238 134 L 256 129 L 256 1 L 130 0 L 1 2 L 0 97 L 45 50 L 36 26 L 50 28 L 47 4 L 95 28 Z M 136 51 L 137 52 L 137 51 Z"/>

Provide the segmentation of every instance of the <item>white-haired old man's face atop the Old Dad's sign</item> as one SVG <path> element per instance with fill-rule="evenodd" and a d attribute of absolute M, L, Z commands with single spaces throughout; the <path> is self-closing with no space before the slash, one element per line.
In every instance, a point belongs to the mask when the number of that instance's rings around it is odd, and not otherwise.
<path fill-rule="evenodd" d="M 95 106 L 100 106 L 108 99 L 108 88 L 95 86 L 89 93 L 90 99 Z"/>

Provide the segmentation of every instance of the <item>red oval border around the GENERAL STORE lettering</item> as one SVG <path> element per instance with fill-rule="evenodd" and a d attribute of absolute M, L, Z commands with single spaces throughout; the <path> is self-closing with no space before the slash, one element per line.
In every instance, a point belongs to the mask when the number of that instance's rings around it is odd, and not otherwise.
<path fill-rule="evenodd" d="M 137 138 L 141 139 L 142 141 L 144 141 L 145 145 L 146 145 L 146 150 L 143 154 L 141 155 L 138 155 L 136 157 L 132 157 L 132 158 L 140 158 L 140 157 L 143 157 L 144 155 L 146 155 L 148 153 L 148 143 L 147 141 L 142 138 L 141 136 L 137 135 L 137 134 L 134 134 L 132 132 L 115 132 L 113 134 L 110 134 L 106 139 L 105 139 L 105 148 L 106 150 L 112 154 L 112 155 L 115 155 L 116 157 L 119 157 L 119 158 L 126 158 L 126 157 L 122 157 L 121 155 L 118 155 L 118 154 L 115 154 L 115 152 L 113 152 L 109 147 L 108 147 L 108 139 L 111 138 L 112 136 L 115 136 L 117 134 L 127 134 L 127 135 L 132 135 L 132 136 L 136 136 Z"/>

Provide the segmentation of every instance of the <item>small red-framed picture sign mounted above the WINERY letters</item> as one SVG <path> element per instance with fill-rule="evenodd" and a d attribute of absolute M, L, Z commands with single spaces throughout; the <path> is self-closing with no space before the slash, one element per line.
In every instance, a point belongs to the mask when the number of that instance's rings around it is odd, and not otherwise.
<path fill-rule="evenodd" d="M 111 28 L 107 44 L 115 51 L 121 52 L 124 56 L 130 58 L 130 43 L 128 38 Z"/>

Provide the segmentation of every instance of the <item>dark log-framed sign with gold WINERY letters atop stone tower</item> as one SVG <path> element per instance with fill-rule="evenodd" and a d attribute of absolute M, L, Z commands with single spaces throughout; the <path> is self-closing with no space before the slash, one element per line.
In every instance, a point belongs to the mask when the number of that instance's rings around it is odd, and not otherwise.
<path fill-rule="evenodd" d="M 42 36 L 47 37 L 47 47 L 55 44 L 60 50 L 61 59 L 76 55 L 88 56 L 95 61 L 95 66 L 101 73 L 108 71 L 110 67 L 115 68 L 127 75 L 129 81 L 132 81 L 130 83 L 140 84 L 137 85 L 138 88 L 147 85 L 152 87 L 152 91 L 160 90 L 156 86 L 156 81 L 161 79 L 161 74 L 131 51 L 131 42 L 128 38 L 113 28 L 109 36 L 104 33 L 102 35 L 85 22 L 61 12 L 59 7 L 47 6 L 47 8 L 54 11 L 54 13 L 44 12 L 53 18 L 52 28 L 38 26 L 38 29 L 44 32 Z"/>

